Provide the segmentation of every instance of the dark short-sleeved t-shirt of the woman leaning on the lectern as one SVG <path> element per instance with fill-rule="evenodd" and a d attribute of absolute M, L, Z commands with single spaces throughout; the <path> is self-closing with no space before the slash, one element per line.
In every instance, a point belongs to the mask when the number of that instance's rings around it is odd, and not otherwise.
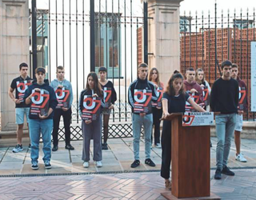
<path fill-rule="evenodd" d="M 163 94 L 162 99 L 168 100 L 168 113 L 184 113 L 186 101 L 190 98 L 190 94 L 179 94 L 177 96 L 170 96 L 166 92 Z"/>

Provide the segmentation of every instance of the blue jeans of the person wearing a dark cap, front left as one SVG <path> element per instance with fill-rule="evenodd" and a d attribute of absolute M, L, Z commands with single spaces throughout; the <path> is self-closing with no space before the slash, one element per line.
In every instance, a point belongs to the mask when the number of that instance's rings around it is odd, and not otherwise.
<path fill-rule="evenodd" d="M 53 130 L 53 119 L 30 119 L 30 142 L 31 142 L 31 162 L 38 162 L 39 140 L 42 134 L 42 151 L 44 162 L 51 158 L 51 132 Z"/>

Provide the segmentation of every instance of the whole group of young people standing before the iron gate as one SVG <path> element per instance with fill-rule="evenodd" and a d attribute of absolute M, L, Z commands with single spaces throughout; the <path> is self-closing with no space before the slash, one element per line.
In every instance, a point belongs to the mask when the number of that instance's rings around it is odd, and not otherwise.
<path fill-rule="evenodd" d="M 43 161 L 46 169 L 50 169 L 51 132 L 54 140 L 52 150 L 56 151 L 58 150 L 58 127 L 61 116 L 63 116 L 65 127 L 66 149 L 74 150 L 74 147 L 70 145 L 72 86 L 64 78 L 65 71 L 62 66 L 57 67 L 57 79 L 50 84 L 45 79 L 46 71 L 44 68 L 37 68 L 36 80 L 34 81 L 28 77 L 27 70 L 26 63 L 22 63 L 20 65 L 21 76 L 15 78 L 10 86 L 9 94 L 16 104 L 16 123 L 18 124 L 18 144 L 13 151 L 19 152 L 22 150 L 22 127 L 24 115 L 26 115 L 30 128 L 32 169 L 38 169 L 40 134 L 42 134 L 43 142 Z M 102 150 L 108 149 L 106 143 L 108 124 L 117 95 L 113 82 L 106 79 L 106 74 L 105 67 L 100 67 L 98 74 L 90 72 L 86 79 L 86 88 L 82 90 L 79 97 L 78 111 L 82 118 L 83 134 L 82 160 L 84 161 L 83 166 L 86 168 L 90 166 L 91 139 L 94 140 L 93 160 L 96 162 L 96 166 L 102 166 Z M 140 165 L 139 142 L 142 126 L 145 138 L 145 164 L 155 166 L 150 158 L 154 127 L 154 146 L 162 148 L 161 176 L 165 179 L 166 188 L 170 188 L 171 123 L 163 120 L 160 140 L 160 118 L 165 119 L 171 113 L 181 113 L 188 110 L 199 112 L 212 110 L 220 113 L 215 118 L 218 143 L 216 150 L 217 170 L 214 178 L 220 179 L 222 174 L 234 175 L 234 172 L 227 167 L 233 133 L 237 147 L 236 159 L 240 162 L 246 162 L 246 158 L 240 152 L 242 114 L 243 110 L 248 107 L 247 95 L 242 105 L 239 102 L 241 96 L 239 90 L 241 91 L 242 88 L 246 91 L 246 84 L 238 78 L 238 66 L 230 61 L 222 62 L 222 77 L 214 82 L 212 89 L 210 84 L 206 82 L 202 69 L 186 69 L 186 79 L 183 78 L 180 72 L 175 70 L 174 74 L 170 76 L 166 87 L 164 87 L 160 81 L 157 68 L 152 68 L 149 71 L 146 63 L 140 64 L 138 66 L 138 78 L 130 84 L 128 89 L 128 102 L 133 113 L 134 137 L 134 162 L 131 163 L 131 167 L 134 168 Z M 14 90 L 16 90 L 16 97 L 13 94 Z M 58 90 L 69 91 L 70 101 L 68 106 L 58 108 Z M 31 106 L 40 102 L 41 98 L 38 98 L 38 93 L 49 99 L 49 109 L 46 114 L 38 114 Z M 106 100 L 108 94 L 110 94 L 110 101 Z M 152 102 L 152 106 L 154 105 L 152 110 L 145 106 L 148 103 L 146 96 L 150 97 L 150 102 Z M 210 98 L 206 98 L 206 96 L 210 96 Z M 98 109 L 90 110 L 91 107 L 98 107 Z M 102 126 L 104 133 L 103 143 Z"/>

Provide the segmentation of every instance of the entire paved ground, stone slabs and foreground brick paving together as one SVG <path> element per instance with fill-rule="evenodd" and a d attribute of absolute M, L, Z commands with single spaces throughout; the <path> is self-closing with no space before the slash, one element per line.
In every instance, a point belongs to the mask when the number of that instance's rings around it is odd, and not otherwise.
<path fill-rule="evenodd" d="M 216 138 L 211 140 L 211 168 L 214 168 Z M 143 164 L 145 154 L 142 140 L 142 165 L 136 168 L 141 171 L 136 172 L 130 168 L 134 160 L 132 138 L 110 139 L 108 144 L 110 150 L 103 151 L 102 168 L 94 166 L 92 161 L 89 169 L 82 167 L 82 142 L 72 142 L 75 147 L 73 151 L 65 150 L 64 143 L 60 142 L 59 150 L 52 154 L 53 168 L 44 169 L 41 151 L 40 169 L 36 171 L 30 169 L 30 150 L 27 147 L 18 154 L 11 151 L 14 146 L 0 148 L 0 200 L 164 199 L 161 193 L 166 192 L 166 189 L 158 171 L 161 166 L 161 150 L 152 149 L 152 159 L 157 166 L 146 166 Z M 242 152 L 248 160 L 246 163 L 234 160 L 234 150 L 233 141 L 229 166 L 240 170 L 234 170 L 234 177 L 224 175 L 220 181 L 213 179 L 214 170 L 211 170 L 211 192 L 222 199 L 256 199 L 256 170 L 248 170 L 256 168 L 256 141 L 242 140 Z"/>

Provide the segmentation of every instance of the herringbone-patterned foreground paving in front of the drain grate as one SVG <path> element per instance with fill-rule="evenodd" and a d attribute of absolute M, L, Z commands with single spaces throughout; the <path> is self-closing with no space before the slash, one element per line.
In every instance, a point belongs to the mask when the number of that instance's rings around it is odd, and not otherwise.
<path fill-rule="evenodd" d="M 235 170 L 234 177 L 210 182 L 222 199 L 256 199 L 256 170 Z M 213 176 L 214 170 L 211 170 Z M 159 173 L 92 174 L 1 178 L 0 199 L 165 199 Z"/>

